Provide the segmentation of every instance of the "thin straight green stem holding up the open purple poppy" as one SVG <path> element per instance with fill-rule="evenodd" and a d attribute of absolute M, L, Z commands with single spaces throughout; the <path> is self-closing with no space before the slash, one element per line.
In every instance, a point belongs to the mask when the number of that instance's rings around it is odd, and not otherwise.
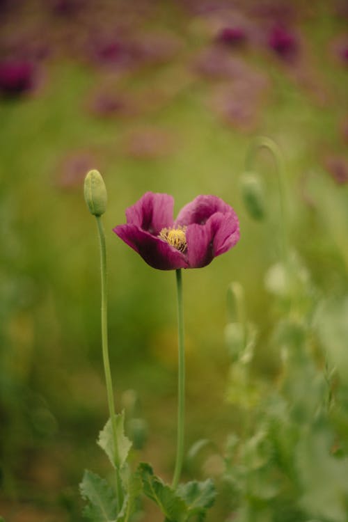
<path fill-rule="evenodd" d="M 182 306 L 182 274 L 176 270 L 177 283 L 177 331 L 178 331 L 178 404 L 177 404 L 177 454 L 172 486 L 175 489 L 180 480 L 184 457 L 184 412 L 185 412 L 185 348 L 184 348 L 184 310 Z"/>

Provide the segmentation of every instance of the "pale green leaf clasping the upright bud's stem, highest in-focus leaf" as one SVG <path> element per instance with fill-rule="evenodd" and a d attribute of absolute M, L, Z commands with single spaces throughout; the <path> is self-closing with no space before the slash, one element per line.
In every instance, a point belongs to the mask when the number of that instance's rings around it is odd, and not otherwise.
<path fill-rule="evenodd" d="M 115 447 L 113 443 L 113 429 L 111 420 L 109 419 L 104 426 L 104 429 L 99 434 L 97 444 L 104 450 L 106 455 L 109 457 L 111 464 L 115 468 L 122 468 L 127 460 L 128 453 L 132 447 L 131 441 L 125 436 L 125 411 L 116 415 L 116 438 L 118 456 L 115 454 Z"/>

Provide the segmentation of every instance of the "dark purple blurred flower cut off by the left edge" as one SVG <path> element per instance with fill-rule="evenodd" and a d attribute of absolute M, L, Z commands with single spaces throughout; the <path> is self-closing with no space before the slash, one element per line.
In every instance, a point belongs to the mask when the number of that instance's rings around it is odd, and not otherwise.
<path fill-rule="evenodd" d="M 32 62 L 8 60 L 0 62 L 0 92 L 15 97 L 34 86 L 35 67 Z"/>

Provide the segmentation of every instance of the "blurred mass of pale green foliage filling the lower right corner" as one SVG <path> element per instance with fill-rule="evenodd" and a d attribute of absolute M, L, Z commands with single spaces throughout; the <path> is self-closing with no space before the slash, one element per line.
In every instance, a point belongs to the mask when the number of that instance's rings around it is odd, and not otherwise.
<path fill-rule="evenodd" d="M 267 287 L 289 311 L 275 322 L 269 340 L 283 366 L 275 386 L 256 381 L 260 401 L 244 412 L 244 417 L 252 413 L 253 423 L 245 419 L 243 436 L 232 436 L 226 446 L 223 481 L 235 498 L 234 517 L 237 522 L 345 522 L 347 299 L 320 301 L 298 256 L 281 274 L 275 269 L 267 274 Z M 232 363 L 232 377 L 239 367 L 241 357 Z M 244 393 L 244 383 L 232 386 Z"/>

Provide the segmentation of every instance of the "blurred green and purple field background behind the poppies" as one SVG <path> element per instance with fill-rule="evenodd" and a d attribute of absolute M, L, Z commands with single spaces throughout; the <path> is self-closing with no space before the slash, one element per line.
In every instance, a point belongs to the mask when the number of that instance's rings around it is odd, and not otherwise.
<path fill-rule="evenodd" d="M 108 412 L 97 230 L 83 198 L 90 168 L 100 170 L 109 194 L 116 404 L 139 397 L 148 423 L 139 458 L 166 480 L 175 459 L 175 274 L 151 269 L 113 234 L 125 208 L 150 190 L 172 194 L 176 214 L 212 193 L 240 219 L 232 251 L 183 274 L 188 448 L 199 438 L 219 447 L 239 427 L 239 407 L 226 399 L 232 280 L 242 283 L 260 330 L 252 371 L 269 383 L 278 376 L 280 355 L 262 342 L 274 321 L 264 272 L 280 247 L 278 181 L 267 152 L 257 160 L 265 221 L 250 219 L 240 192 L 255 136 L 283 151 L 290 239 L 315 284 L 327 295 L 347 294 L 347 16 L 343 1 L 0 2 L 0 514 L 7 522 L 82 520 L 84 468 L 108 469 L 95 445 Z"/>

